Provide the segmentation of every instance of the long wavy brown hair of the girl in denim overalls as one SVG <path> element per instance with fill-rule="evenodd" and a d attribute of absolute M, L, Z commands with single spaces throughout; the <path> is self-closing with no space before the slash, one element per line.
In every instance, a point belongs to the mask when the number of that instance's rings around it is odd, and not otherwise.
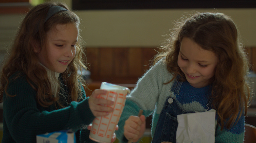
<path fill-rule="evenodd" d="M 165 57 L 167 69 L 176 78 L 185 75 L 178 66 L 181 40 L 190 38 L 203 49 L 218 57 L 218 64 L 212 80 L 212 108 L 218 114 L 221 130 L 229 129 L 243 114 L 247 113 L 250 101 L 250 88 L 247 80 L 248 57 L 239 40 L 239 32 L 233 20 L 223 13 L 198 13 L 182 18 L 174 25 L 171 35 L 162 44 L 154 64 Z M 172 79 L 172 80 L 173 80 Z M 224 125 L 225 123 L 225 125 Z"/>

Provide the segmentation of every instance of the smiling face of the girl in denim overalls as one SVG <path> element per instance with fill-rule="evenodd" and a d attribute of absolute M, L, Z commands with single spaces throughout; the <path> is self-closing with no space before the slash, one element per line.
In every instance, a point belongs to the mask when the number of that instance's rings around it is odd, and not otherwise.
<path fill-rule="evenodd" d="M 189 38 L 181 40 L 178 66 L 191 86 L 201 88 L 209 85 L 217 63 L 218 58 L 213 52 L 204 50 Z"/>

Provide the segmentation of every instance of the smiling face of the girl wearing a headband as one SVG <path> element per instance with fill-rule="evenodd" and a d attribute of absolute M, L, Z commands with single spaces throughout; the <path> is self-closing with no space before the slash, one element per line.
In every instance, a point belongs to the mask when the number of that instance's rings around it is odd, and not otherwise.
<path fill-rule="evenodd" d="M 75 56 L 75 44 L 78 39 L 78 27 L 75 24 L 57 24 L 56 28 L 52 28 L 47 32 L 46 48 L 35 52 L 41 64 L 46 68 L 62 73 L 71 63 Z M 46 53 L 49 58 L 46 60 Z"/>

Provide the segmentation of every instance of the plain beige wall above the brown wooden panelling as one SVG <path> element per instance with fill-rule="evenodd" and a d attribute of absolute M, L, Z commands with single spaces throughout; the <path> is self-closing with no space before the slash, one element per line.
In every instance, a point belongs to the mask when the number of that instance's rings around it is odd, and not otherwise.
<path fill-rule="evenodd" d="M 72 7 L 72 0 L 53 1 L 62 1 Z M 168 34 L 174 21 L 194 10 L 229 15 L 238 26 L 243 44 L 256 46 L 256 8 L 78 10 L 76 13 L 82 20 L 81 36 L 87 47 L 157 47 L 164 40 L 162 35 Z M 0 26 L 3 29 L 0 32 L 0 50 L 9 45 L 8 40 L 23 17 L 21 14 L 0 15 Z M 12 33 L 3 35 L 8 31 Z"/>

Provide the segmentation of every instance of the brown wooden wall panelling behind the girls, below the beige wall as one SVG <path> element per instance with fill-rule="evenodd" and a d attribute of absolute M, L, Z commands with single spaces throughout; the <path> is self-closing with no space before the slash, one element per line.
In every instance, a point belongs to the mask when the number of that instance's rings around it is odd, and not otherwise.
<path fill-rule="evenodd" d="M 160 51 L 154 47 L 101 47 L 87 48 L 87 62 L 91 79 L 94 83 L 110 82 L 114 84 L 135 84 L 153 64 L 153 59 Z M 256 71 L 256 47 L 249 47 L 246 52 Z M 90 84 L 90 83 L 89 83 Z"/>

